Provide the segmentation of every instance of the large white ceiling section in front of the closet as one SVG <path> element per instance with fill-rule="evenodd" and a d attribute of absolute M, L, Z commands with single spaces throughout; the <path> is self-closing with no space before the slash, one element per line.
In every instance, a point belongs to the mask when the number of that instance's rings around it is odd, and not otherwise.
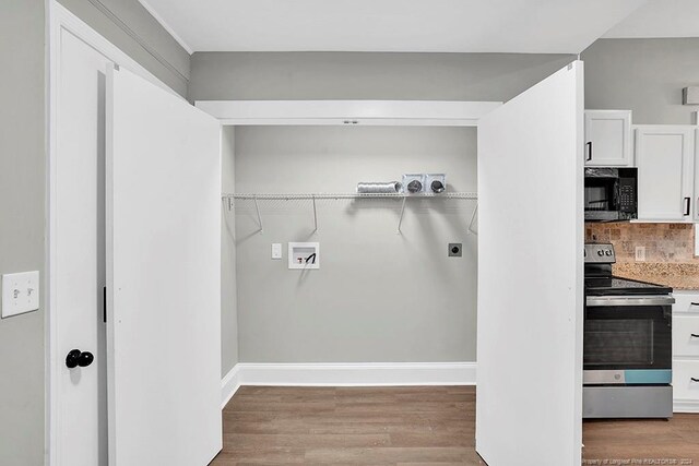
<path fill-rule="evenodd" d="M 140 1 L 190 52 L 578 53 L 645 0 Z"/>

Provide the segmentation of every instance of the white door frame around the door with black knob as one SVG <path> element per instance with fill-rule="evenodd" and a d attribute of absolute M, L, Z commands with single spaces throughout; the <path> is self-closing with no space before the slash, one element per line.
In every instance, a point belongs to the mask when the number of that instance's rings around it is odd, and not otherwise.
<path fill-rule="evenodd" d="M 58 115 L 60 108 L 59 99 L 59 82 L 60 82 L 60 62 L 61 62 L 61 34 L 68 32 L 78 37 L 99 53 L 104 55 L 109 60 L 114 61 L 118 65 L 123 65 L 141 77 L 163 87 L 170 92 L 173 95 L 181 98 L 179 94 L 168 87 L 165 83 L 158 80 L 154 74 L 140 65 L 135 60 L 121 51 L 118 47 L 111 44 L 109 40 L 99 35 L 95 29 L 88 26 L 85 22 L 80 20 L 73 13 L 71 13 L 63 5 L 58 3 L 57 0 L 46 1 L 46 34 L 48 38 L 48 47 L 46 50 L 46 141 L 47 141 L 47 190 L 45 205 L 47 206 L 46 214 L 46 242 L 45 242 L 45 270 L 46 279 L 43 284 L 43 292 L 46 297 L 46 312 L 44 316 L 45 326 L 45 455 L 44 463 L 49 466 L 62 466 L 58 465 L 57 452 L 58 445 L 58 429 L 59 423 L 59 406 L 60 397 L 58 391 L 58 370 L 62 360 L 61 355 L 58 354 L 58 320 L 57 311 L 54 307 L 56 301 L 56 252 L 60 244 L 58 244 L 56 235 L 56 222 L 58 217 L 57 203 L 56 203 L 56 186 L 58 182 L 56 171 L 56 160 L 58 157 Z"/>

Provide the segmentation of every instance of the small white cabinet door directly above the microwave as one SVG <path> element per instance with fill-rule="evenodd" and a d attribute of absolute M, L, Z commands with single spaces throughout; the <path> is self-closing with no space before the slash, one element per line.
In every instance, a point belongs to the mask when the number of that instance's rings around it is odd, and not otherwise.
<path fill-rule="evenodd" d="M 585 165 L 631 167 L 631 110 L 585 110 Z"/>

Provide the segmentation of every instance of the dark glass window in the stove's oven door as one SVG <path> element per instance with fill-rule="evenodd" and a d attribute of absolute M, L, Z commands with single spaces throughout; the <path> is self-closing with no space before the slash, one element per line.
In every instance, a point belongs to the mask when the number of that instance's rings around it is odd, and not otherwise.
<path fill-rule="evenodd" d="M 653 366 L 653 321 L 588 321 L 583 355 L 589 366 Z"/>

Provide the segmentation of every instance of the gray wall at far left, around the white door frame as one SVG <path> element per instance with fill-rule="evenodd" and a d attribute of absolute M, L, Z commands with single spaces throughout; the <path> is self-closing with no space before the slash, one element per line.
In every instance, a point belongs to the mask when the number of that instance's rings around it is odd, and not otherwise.
<path fill-rule="evenodd" d="M 129 24 L 137 41 L 95 7 L 62 0 L 85 22 L 152 73 L 187 92 L 189 56 L 138 0 L 104 0 Z M 38 270 L 45 275 L 46 127 L 45 1 L 0 2 L 0 274 Z M 154 50 L 170 68 L 154 59 Z M 180 76 L 179 74 L 182 74 Z M 0 464 L 44 463 L 45 297 L 40 310 L 0 320 Z"/>

